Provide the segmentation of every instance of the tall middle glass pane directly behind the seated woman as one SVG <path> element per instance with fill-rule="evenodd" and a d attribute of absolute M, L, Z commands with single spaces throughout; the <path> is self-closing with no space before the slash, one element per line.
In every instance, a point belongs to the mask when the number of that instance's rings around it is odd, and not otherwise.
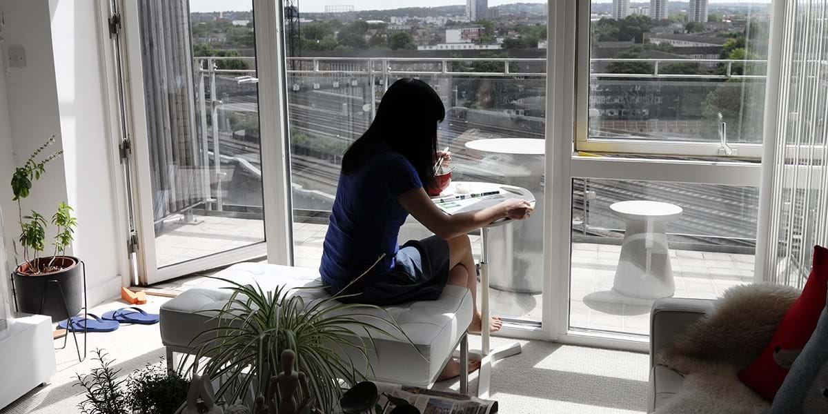
<path fill-rule="evenodd" d="M 547 5 L 485 4 L 286 4 L 295 263 L 319 268 L 344 151 L 368 128 L 390 84 L 418 78 L 445 105 L 438 147 L 453 154 L 452 179 L 518 185 L 538 200 L 532 219 L 493 230 L 490 251 L 493 315 L 537 328 L 545 280 Z M 476 145 L 495 139 L 505 145 Z M 399 241 L 430 235 L 409 218 Z M 469 237 L 479 255 L 479 234 Z"/>

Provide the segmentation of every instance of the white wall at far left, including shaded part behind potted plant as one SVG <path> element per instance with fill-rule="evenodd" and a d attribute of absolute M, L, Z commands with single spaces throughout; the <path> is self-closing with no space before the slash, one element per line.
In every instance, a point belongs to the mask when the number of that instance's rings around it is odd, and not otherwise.
<path fill-rule="evenodd" d="M 47 166 L 46 176 L 36 182 L 23 207 L 47 217 L 60 201 L 75 208 L 79 226 L 70 253 L 86 262 L 90 305 L 118 296 L 125 272 L 118 253 L 123 242 L 117 236 L 113 207 L 94 4 L 92 0 L 0 0 L 6 22 L 2 30 L 5 99 L 0 82 L 0 206 L 7 216 L 5 237 L 10 242 L 17 226 L 17 210 L 8 210 L 13 205 L 7 201 L 11 190 L 6 183 L 12 171 L 7 166 L 20 165 L 46 138 L 58 135 L 51 151 L 63 149 L 65 154 Z M 7 68 L 8 46 L 26 49 L 26 67 Z M 3 129 L 4 108 L 8 134 Z M 10 164 L 2 157 L 12 152 Z"/>

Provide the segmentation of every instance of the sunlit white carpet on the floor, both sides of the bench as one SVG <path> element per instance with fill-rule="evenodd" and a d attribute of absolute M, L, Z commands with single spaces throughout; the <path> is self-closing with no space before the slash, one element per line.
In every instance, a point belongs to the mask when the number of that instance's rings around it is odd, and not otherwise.
<path fill-rule="evenodd" d="M 144 309 L 156 312 L 166 298 L 148 296 Z M 113 301 L 97 306 L 92 313 L 123 307 Z M 87 373 L 97 362 L 87 358 L 78 363 L 75 345 L 55 351 L 58 373 L 44 388 L 37 388 L 0 410 L 2 414 L 66 414 L 79 412 L 81 389 L 73 387 L 75 373 Z M 479 347 L 479 338 L 471 347 Z M 82 340 L 82 337 L 79 337 Z M 493 339 L 493 346 L 506 343 Z M 498 400 L 500 412 L 522 413 L 638 413 L 644 412 L 647 394 L 646 354 L 605 349 L 581 348 L 539 341 L 521 341 L 523 353 L 494 364 L 492 398 Z M 62 339 L 55 345 L 62 344 Z M 81 343 L 81 349 L 83 344 Z M 156 363 L 164 355 L 157 325 L 123 325 L 105 334 L 89 334 L 89 351 L 106 349 L 115 359 L 115 368 L 125 376 L 147 363 Z M 2 373 L 9 375 L 10 373 Z M 438 388 L 457 389 L 458 381 L 438 383 Z M 477 389 L 477 374 L 472 374 L 470 388 Z"/>

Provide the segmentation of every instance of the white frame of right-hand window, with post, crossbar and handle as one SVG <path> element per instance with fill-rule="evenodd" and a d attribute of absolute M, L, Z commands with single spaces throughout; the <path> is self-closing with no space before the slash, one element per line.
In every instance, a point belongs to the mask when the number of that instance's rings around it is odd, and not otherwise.
<path fill-rule="evenodd" d="M 549 50 L 556 53 L 547 56 L 546 74 L 547 207 L 544 240 L 549 248 L 544 258 L 543 329 L 548 340 L 564 344 L 646 352 L 649 343 L 647 336 L 570 329 L 572 180 L 672 181 L 759 187 L 763 166 L 758 162 L 736 159 L 679 161 L 633 156 L 718 156 L 719 142 L 587 139 L 591 79 L 590 7 L 590 0 L 564 0 L 549 4 L 548 44 Z M 737 150 L 739 158 L 761 159 L 764 151 L 761 144 L 729 145 Z M 629 156 L 581 156 L 579 151 Z M 757 243 L 763 243 L 763 238 L 758 238 Z M 757 252 L 762 250 L 763 247 L 757 244 Z M 756 277 L 761 275 L 760 267 L 761 263 L 757 261 Z"/>

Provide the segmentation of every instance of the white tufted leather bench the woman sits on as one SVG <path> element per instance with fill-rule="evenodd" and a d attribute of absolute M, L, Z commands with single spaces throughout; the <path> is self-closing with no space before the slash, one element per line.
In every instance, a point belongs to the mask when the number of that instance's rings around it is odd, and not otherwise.
<path fill-rule="evenodd" d="M 241 284 L 258 283 L 264 290 L 273 290 L 276 286 L 320 286 L 319 272 L 266 263 L 240 263 L 219 272 L 216 277 Z M 216 320 L 211 319 L 209 310 L 221 309 L 231 295 L 228 290 L 221 289 L 222 286 L 227 284 L 209 281 L 161 306 L 161 342 L 166 347 L 169 367 L 173 352 L 195 353 L 193 339 L 215 326 Z M 307 300 L 328 296 L 322 289 L 295 292 Z M 461 357 L 468 354 L 465 330 L 471 322 L 472 309 L 469 289 L 460 286 L 445 286 L 442 296 L 436 301 L 386 307 L 385 310 L 397 320 L 416 349 L 402 335 L 397 334 L 394 338 L 374 335 L 376 349 L 369 353 L 368 358 L 373 368 L 370 378 L 384 383 L 431 387 L 458 345 L 463 354 Z M 365 310 L 359 312 L 365 313 Z M 376 314 L 383 315 L 379 311 Z M 377 324 L 377 320 L 365 320 L 372 325 Z M 388 327 L 385 329 L 389 330 Z M 364 366 L 361 354 L 354 351 L 349 356 L 354 359 L 354 367 Z M 460 378 L 461 392 L 468 392 L 467 384 L 468 373 Z"/>

